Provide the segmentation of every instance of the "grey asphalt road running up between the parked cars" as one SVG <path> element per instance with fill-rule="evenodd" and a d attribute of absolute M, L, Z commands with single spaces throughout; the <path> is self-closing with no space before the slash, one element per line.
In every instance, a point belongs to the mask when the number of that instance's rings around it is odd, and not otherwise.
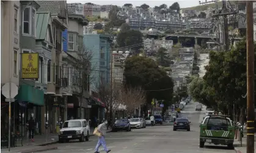
<path fill-rule="evenodd" d="M 195 108 L 196 103 L 190 102 L 180 114 L 180 116 L 187 116 L 191 121 L 191 131 L 173 131 L 172 123 L 169 123 L 145 129 L 133 129 L 131 132 L 110 132 L 106 136 L 108 148 L 113 153 L 233 153 L 233 150 L 221 145 L 207 146 L 208 144 L 206 144 L 205 148 L 199 148 L 199 124 L 202 121 L 205 108 L 202 112 L 196 112 Z M 58 149 L 48 152 L 94 152 L 96 143 L 97 137 L 90 137 L 90 141 L 84 143 L 74 141 L 55 144 Z M 100 148 L 100 152 L 104 152 L 103 148 Z"/>

